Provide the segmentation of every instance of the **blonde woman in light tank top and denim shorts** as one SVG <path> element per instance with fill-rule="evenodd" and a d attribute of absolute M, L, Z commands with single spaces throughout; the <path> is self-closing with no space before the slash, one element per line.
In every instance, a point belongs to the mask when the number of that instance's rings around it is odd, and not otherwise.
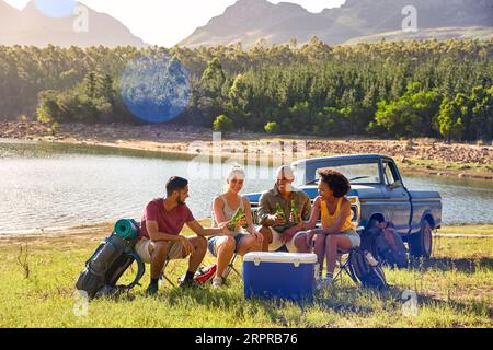
<path fill-rule="evenodd" d="M 216 197 L 213 202 L 213 226 L 217 228 L 230 222 L 239 210 L 243 210 L 245 218 L 240 220 L 232 230 L 233 234 L 218 235 L 209 238 L 208 249 L 217 257 L 217 271 L 213 285 L 223 284 L 223 273 L 234 253 L 244 256 L 250 252 L 261 252 L 263 235 L 253 225 L 252 208 L 246 197 L 240 196 L 245 179 L 245 172 L 241 166 L 234 166 L 226 178 L 226 191 Z M 245 226 L 246 229 L 243 229 Z"/>

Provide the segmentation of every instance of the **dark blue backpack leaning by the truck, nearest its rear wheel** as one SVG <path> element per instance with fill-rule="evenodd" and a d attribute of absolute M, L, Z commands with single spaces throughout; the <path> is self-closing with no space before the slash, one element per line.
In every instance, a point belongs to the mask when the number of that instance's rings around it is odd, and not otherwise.
<path fill-rule="evenodd" d="M 377 223 L 375 228 L 365 232 L 362 247 L 381 262 L 390 267 L 406 268 L 408 252 L 401 235 L 391 222 Z"/>

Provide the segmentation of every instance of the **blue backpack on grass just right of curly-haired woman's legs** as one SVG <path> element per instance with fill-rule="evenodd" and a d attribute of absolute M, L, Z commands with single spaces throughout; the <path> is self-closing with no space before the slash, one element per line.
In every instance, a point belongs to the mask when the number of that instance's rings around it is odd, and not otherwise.
<path fill-rule="evenodd" d="M 388 288 L 381 264 L 370 252 L 355 248 L 349 255 L 349 275 L 355 283 L 363 287 L 385 290 Z"/>

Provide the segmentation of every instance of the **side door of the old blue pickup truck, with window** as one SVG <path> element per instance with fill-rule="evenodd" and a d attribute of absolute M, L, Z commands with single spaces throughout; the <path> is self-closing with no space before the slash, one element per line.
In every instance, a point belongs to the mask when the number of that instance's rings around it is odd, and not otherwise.
<path fill-rule="evenodd" d="M 388 207 L 392 208 L 392 222 L 400 234 L 408 234 L 411 219 L 411 202 L 408 190 L 404 188 L 395 163 L 390 160 L 382 160 L 382 166 L 383 198 Z"/>

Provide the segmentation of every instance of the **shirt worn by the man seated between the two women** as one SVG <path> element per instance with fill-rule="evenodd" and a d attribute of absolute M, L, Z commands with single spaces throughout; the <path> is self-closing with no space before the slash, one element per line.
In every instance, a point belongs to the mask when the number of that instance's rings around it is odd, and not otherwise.
<path fill-rule="evenodd" d="M 279 194 L 277 186 L 274 186 L 273 189 L 263 192 L 260 198 L 259 211 L 257 211 L 259 222 L 262 225 L 266 225 L 267 217 L 274 215 L 276 213 L 277 203 L 279 203 L 286 218 L 289 220 L 289 215 L 291 213 L 291 200 L 295 201 L 299 213 L 301 213 L 301 219 L 303 221 L 310 220 L 311 201 L 306 192 L 303 192 L 300 189 L 294 188 L 293 191 L 289 194 L 288 199 L 285 200 L 283 198 L 283 196 Z M 277 232 L 282 233 L 282 232 L 293 228 L 294 225 L 295 224 L 293 224 L 291 222 L 288 222 L 284 226 L 273 226 L 273 228 Z"/>

